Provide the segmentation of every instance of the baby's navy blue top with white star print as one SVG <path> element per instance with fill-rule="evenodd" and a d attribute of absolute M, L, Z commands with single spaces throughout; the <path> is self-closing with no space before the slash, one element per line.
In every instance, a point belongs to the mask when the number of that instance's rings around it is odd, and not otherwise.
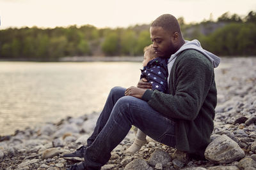
<path fill-rule="evenodd" d="M 160 58 L 150 60 L 147 66 L 141 69 L 140 78 L 146 78 L 152 84 L 152 90 L 158 90 L 168 94 L 168 58 Z"/>

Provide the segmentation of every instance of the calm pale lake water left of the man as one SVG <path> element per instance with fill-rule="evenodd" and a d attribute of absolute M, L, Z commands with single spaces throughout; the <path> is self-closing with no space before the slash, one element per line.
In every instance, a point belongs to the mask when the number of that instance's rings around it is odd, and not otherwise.
<path fill-rule="evenodd" d="M 0 135 L 102 110 L 109 90 L 131 87 L 141 62 L 0 62 Z"/>

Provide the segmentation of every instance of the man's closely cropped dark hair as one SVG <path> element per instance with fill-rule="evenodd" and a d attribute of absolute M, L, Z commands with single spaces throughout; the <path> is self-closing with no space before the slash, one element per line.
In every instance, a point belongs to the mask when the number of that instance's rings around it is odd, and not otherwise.
<path fill-rule="evenodd" d="M 156 20 L 154 20 L 150 26 L 163 27 L 165 31 L 170 31 L 172 34 L 174 32 L 181 34 L 178 20 L 170 14 L 161 15 L 160 17 L 156 18 Z"/>

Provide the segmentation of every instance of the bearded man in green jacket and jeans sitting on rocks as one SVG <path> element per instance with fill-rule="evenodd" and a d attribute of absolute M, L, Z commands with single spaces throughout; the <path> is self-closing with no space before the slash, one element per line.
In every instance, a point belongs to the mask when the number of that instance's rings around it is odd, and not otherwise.
<path fill-rule="evenodd" d="M 217 103 L 214 67 L 220 59 L 197 40 L 185 41 L 177 19 L 169 14 L 152 22 L 150 38 L 157 55 L 170 56 L 170 94 L 150 90 L 143 79 L 138 87 L 111 89 L 88 145 L 64 155 L 84 157 L 70 169 L 100 169 L 131 125 L 165 145 L 204 157 Z"/>

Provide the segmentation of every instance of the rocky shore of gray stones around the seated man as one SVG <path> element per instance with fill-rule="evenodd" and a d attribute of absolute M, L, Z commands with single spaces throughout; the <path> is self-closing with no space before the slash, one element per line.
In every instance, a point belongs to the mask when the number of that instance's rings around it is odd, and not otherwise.
<path fill-rule="evenodd" d="M 206 160 L 148 139 L 134 155 L 125 153 L 134 134 L 112 152 L 102 169 L 256 169 L 256 57 L 222 59 L 215 70 L 218 105 Z M 78 159 L 62 155 L 86 144 L 99 113 L 68 117 L 0 136 L 0 169 L 66 169 Z"/>

